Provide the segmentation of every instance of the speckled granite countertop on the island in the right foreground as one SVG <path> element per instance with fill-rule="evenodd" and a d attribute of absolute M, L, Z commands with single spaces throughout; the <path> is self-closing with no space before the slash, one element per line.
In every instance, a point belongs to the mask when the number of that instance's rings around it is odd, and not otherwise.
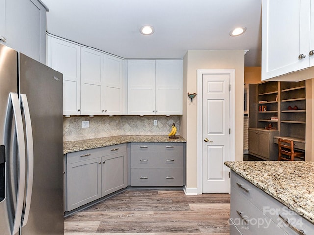
<path fill-rule="evenodd" d="M 314 162 L 225 162 L 238 175 L 314 223 Z"/>

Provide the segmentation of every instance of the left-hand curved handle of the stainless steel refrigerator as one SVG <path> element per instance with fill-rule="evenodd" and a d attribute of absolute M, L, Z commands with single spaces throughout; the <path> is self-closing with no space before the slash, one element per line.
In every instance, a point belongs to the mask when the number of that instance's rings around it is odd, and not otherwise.
<path fill-rule="evenodd" d="M 25 141 L 23 133 L 22 114 L 20 109 L 19 96 L 16 93 L 10 93 L 10 103 L 13 107 L 13 115 L 15 118 L 16 138 L 18 146 L 18 191 L 16 200 L 15 217 L 13 222 L 12 234 L 16 234 L 20 229 L 23 202 L 24 202 L 24 189 L 25 189 Z"/>

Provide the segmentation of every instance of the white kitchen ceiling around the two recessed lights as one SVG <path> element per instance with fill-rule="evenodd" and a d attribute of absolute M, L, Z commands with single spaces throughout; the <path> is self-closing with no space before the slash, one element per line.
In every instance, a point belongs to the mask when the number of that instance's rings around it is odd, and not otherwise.
<path fill-rule="evenodd" d="M 262 0 L 42 0 L 47 32 L 123 58 L 183 58 L 187 50 L 248 49 L 261 66 Z M 139 33 L 143 25 L 153 35 Z M 229 36 L 238 26 L 245 34 Z"/>

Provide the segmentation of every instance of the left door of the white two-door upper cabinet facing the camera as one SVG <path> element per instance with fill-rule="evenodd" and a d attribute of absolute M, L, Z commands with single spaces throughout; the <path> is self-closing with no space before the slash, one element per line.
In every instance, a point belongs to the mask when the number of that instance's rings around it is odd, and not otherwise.
<path fill-rule="evenodd" d="M 155 114 L 155 60 L 128 61 L 128 114 Z"/>

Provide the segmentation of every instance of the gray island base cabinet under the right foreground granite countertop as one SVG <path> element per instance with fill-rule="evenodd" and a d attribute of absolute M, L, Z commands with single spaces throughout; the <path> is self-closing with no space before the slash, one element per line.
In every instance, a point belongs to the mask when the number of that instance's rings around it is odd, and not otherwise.
<path fill-rule="evenodd" d="M 300 235 L 314 231 L 314 224 L 233 171 L 229 224 L 230 235 Z"/>

